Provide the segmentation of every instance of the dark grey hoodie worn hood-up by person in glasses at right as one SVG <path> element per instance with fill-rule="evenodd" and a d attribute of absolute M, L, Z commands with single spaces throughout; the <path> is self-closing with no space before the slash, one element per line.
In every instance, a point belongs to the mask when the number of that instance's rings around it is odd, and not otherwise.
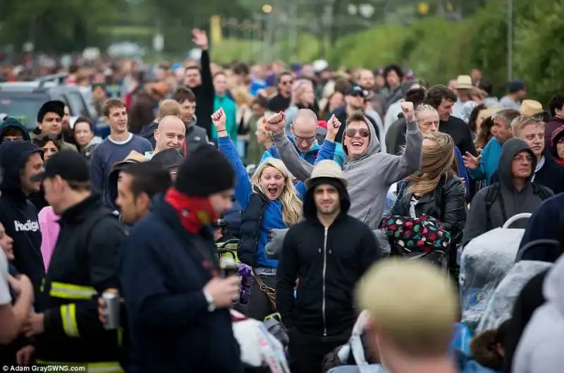
<path fill-rule="evenodd" d="M 520 152 L 528 152 L 534 157 L 532 149 L 527 143 L 521 139 L 513 138 L 506 141 L 501 147 L 499 157 L 498 177 L 499 182 L 496 185 L 490 185 L 487 188 L 479 190 L 472 200 L 470 213 L 466 220 L 464 235 L 462 242 L 464 244 L 470 242 L 473 238 L 480 236 L 486 231 L 503 226 L 505 221 L 511 216 L 521 214 L 522 212 L 534 212 L 542 203 L 539 190 L 544 189 L 546 195 L 552 195 L 553 192 L 541 185 L 533 185 L 531 176 L 527 178 L 525 187 L 517 192 L 513 185 L 513 176 L 511 172 L 511 164 L 513 157 Z M 533 161 L 532 169 L 537 166 L 537 161 Z M 491 188 L 499 188 L 499 193 L 494 202 L 491 204 L 489 216 L 491 226 L 487 226 L 486 219 L 486 196 Z M 517 221 L 513 224 L 513 228 L 525 228 L 526 221 Z"/>

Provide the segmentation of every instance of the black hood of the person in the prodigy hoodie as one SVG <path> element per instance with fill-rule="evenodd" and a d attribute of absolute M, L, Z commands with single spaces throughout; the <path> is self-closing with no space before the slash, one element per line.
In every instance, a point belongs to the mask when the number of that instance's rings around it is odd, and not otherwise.
<path fill-rule="evenodd" d="M 22 193 L 20 171 L 31 154 L 41 153 L 39 147 L 29 141 L 6 141 L 0 145 L 0 168 L 2 183 L 0 190 L 5 193 Z"/>

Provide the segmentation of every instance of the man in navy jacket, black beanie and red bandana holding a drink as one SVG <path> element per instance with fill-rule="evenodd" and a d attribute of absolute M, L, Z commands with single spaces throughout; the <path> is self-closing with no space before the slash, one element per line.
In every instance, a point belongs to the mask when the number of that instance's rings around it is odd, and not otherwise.
<path fill-rule="evenodd" d="M 228 160 L 202 145 L 130 231 L 121 286 L 135 372 L 243 372 L 228 310 L 240 280 L 219 276 L 210 226 L 231 207 L 234 186 Z"/>

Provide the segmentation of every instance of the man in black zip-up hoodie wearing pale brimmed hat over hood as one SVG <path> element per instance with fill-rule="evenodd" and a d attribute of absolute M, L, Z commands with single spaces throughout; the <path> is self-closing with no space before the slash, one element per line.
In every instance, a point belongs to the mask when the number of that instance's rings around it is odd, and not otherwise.
<path fill-rule="evenodd" d="M 290 334 L 290 370 L 321 373 L 324 356 L 350 338 L 355 284 L 380 248 L 369 226 L 347 214 L 347 182 L 336 162 L 320 161 L 306 186 L 305 220 L 286 234 L 278 263 L 276 308 Z"/>

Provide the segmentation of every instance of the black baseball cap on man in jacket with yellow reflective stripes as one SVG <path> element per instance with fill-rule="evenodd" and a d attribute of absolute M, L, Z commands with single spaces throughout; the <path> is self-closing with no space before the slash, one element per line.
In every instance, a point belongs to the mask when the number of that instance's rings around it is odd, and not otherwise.
<path fill-rule="evenodd" d="M 45 178 L 54 178 L 57 175 L 65 181 L 74 181 L 75 183 L 88 183 L 90 181 L 90 172 L 85 157 L 74 150 L 62 150 L 54 154 L 45 163 L 44 171 L 32 176 L 31 181 L 42 181 Z"/>

